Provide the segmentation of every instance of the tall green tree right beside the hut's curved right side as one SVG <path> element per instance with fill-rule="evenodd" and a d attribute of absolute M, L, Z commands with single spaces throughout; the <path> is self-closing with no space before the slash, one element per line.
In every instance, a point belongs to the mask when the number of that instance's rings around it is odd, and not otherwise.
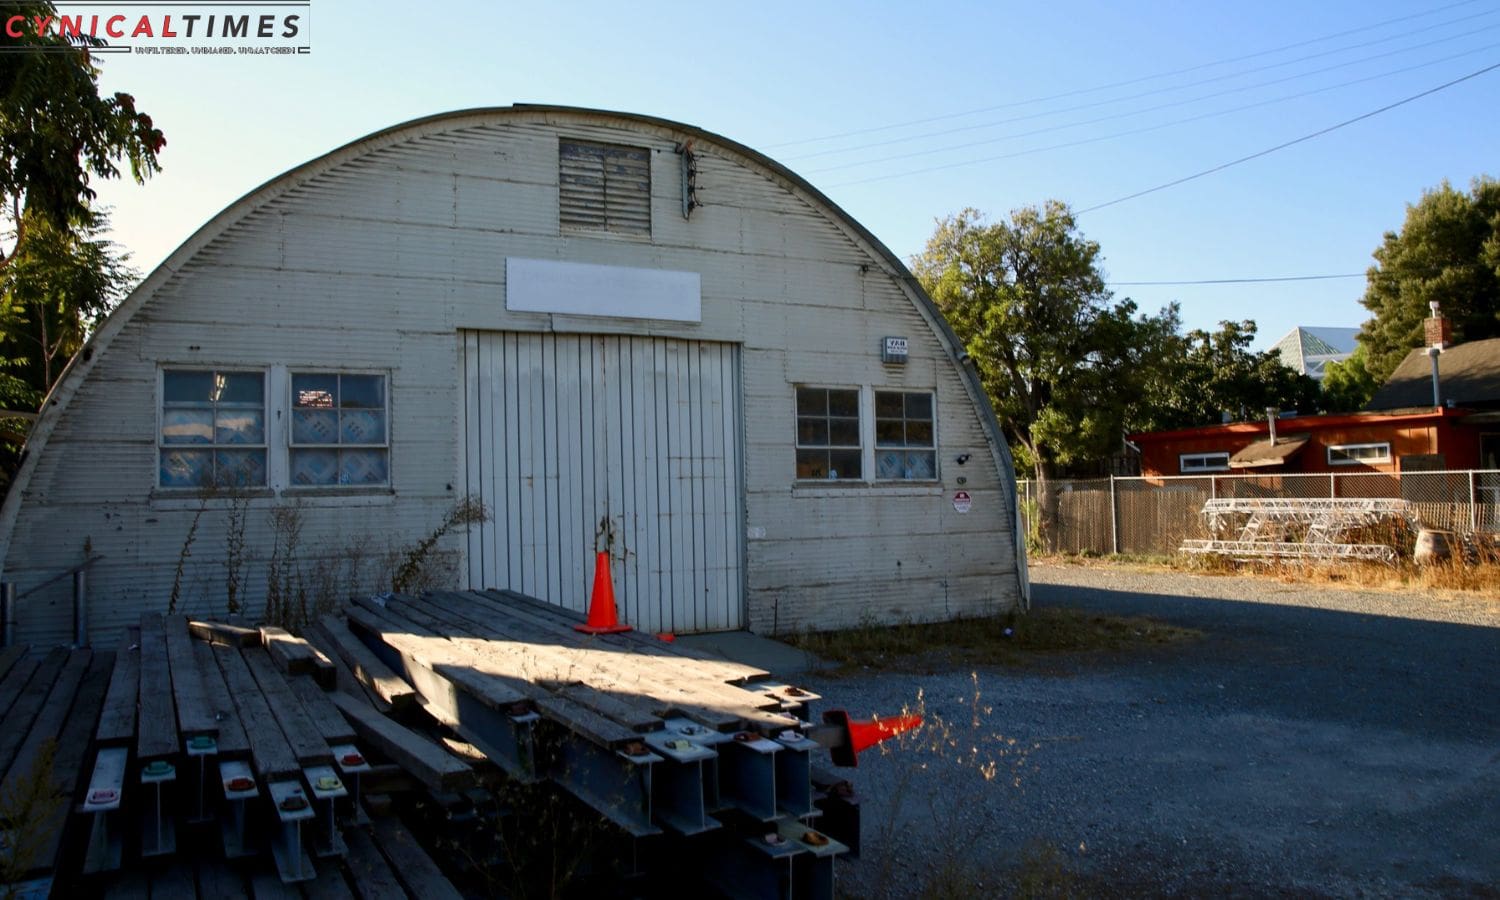
<path fill-rule="evenodd" d="M 1119 447 L 1131 398 L 1178 328 L 1174 308 L 1137 316 L 1100 273 L 1100 244 L 1059 201 L 987 224 L 963 210 L 938 224 L 912 260 L 922 286 L 963 340 L 1017 460 L 1042 486 L 1042 538 L 1070 464 Z"/>

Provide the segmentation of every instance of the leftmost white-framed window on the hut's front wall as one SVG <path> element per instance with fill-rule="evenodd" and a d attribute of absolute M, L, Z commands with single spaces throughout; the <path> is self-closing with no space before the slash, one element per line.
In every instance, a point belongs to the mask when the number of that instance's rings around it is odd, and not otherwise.
<path fill-rule="evenodd" d="M 266 486 L 266 372 L 162 369 L 160 488 Z"/>

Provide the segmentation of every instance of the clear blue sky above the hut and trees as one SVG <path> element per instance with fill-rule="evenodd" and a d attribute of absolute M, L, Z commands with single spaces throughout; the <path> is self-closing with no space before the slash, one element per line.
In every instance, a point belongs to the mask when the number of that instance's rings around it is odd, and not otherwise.
<path fill-rule="evenodd" d="M 308 159 L 448 110 L 698 124 L 784 162 L 909 258 L 963 207 L 1094 207 L 1500 63 L 1500 0 L 314 0 L 310 20 L 309 56 L 104 62 L 104 87 L 134 93 L 168 140 L 147 186 L 100 189 L 135 266 Z M 1500 176 L 1497 98 L 1500 70 L 1084 213 L 1082 231 L 1112 282 L 1362 273 L 1425 188 Z M 1252 318 L 1262 346 L 1366 318 L 1358 278 L 1116 291 L 1143 309 L 1178 300 L 1188 327 Z"/>

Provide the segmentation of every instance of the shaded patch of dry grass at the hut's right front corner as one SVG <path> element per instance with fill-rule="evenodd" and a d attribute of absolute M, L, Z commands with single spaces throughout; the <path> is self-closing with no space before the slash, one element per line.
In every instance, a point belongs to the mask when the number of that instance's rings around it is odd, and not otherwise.
<path fill-rule="evenodd" d="M 1150 616 L 1102 615 L 1080 609 L 1034 609 L 1023 615 L 951 622 L 876 626 L 810 632 L 789 644 L 846 669 L 921 666 L 1023 666 L 1060 652 L 1125 651 L 1200 638 Z"/>

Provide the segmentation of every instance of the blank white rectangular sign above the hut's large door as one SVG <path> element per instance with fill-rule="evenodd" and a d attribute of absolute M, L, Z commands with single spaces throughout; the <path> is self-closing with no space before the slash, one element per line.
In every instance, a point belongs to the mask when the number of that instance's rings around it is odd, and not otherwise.
<path fill-rule="evenodd" d="M 506 309 L 700 322 L 702 279 L 696 272 L 510 256 Z"/>

